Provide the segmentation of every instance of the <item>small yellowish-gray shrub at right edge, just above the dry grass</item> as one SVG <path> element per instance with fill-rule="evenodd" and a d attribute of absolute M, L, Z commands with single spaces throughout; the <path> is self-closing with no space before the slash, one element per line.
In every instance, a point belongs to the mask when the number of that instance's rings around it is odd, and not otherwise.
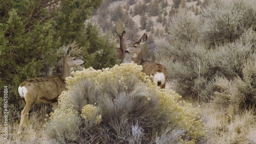
<path fill-rule="evenodd" d="M 221 92 L 215 92 L 215 107 L 229 114 L 256 108 L 256 59 L 249 60 L 243 68 L 243 78 L 233 80 L 219 78 L 216 81 Z"/>

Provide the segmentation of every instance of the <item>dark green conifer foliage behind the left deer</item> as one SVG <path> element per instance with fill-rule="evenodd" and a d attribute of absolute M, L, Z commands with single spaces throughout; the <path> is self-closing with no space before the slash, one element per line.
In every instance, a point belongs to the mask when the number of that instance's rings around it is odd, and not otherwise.
<path fill-rule="evenodd" d="M 57 50 L 62 45 L 76 40 L 78 47 L 83 47 L 80 58 L 87 61 L 87 66 L 102 68 L 115 64 L 114 49 L 110 49 L 114 45 L 107 41 L 107 36 L 100 36 L 98 28 L 84 24 L 92 9 L 99 7 L 101 2 L 0 2 L 0 87 L 9 86 L 10 105 L 19 109 L 20 101 L 15 95 L 24 80 L 55 75 L 60 71 L 58 64 L 61 62 L 57 58 L 62 54 Z M 107 48 L 103 49 L 103 45 Z M 96 54 L 100 49 L 103 53 Z"/>

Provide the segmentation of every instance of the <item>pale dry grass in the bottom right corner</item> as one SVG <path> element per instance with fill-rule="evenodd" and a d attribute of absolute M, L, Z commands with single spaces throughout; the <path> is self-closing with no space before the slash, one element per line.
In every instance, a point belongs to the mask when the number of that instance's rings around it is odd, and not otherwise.
<path fill-rule="evenodd" d="M 212 111 L 210 105 L 203 106 L 202 117 L 208 138 L 205 143 L 255 143 L 256 119 L 249 110 L 233 117 L 220 111 Z"/>

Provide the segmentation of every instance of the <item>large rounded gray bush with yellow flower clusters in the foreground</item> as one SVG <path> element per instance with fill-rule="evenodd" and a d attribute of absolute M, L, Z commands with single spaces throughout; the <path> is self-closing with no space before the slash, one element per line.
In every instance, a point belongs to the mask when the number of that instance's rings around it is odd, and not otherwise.
<path fill-rule="evenodd" d="M 137 64 L 83 69 L 67 79 L 46 132 L 59 143 L 195 143 L 200 111 L 152 84 Z"/>

